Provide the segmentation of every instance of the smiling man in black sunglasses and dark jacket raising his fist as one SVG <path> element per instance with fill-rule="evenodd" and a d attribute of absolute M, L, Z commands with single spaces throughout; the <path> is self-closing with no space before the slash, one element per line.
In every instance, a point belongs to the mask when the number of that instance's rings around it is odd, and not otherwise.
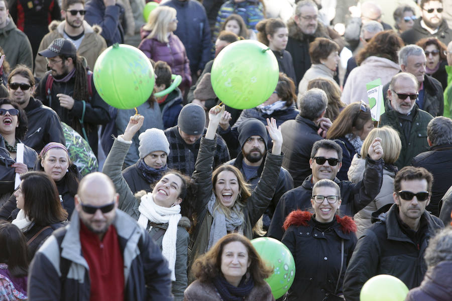
<path fill-rule="evenodd" d="M 282 239 L 284 220 L 292 211 L 310 209 L 312 187 L 322 179 L 332 180 L 340 187 L 341 215 L 354 216 L 373 201 L 380 192 L 384 165 L 382 156 L 381 138 L 375 138 L 369 146 L 363 180 L 357 184 L 350 181 L 339 181 L 336 174 L 342 166 L 341 146 L 327 139 L 315 142 L 309 160 L 312 175 L 307 177 L 301 186 L 289 190 L 280 198 L 268 229 L 268 236 L 278 240 Z"/>

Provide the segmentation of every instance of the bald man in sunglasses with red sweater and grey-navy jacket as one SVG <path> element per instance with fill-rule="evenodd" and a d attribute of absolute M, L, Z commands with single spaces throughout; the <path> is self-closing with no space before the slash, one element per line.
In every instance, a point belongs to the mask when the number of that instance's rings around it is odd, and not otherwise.
<path fill-rule="evenodd" d="M 87 175 L 74 200 L 70 224 L 30 265 L 30 300 L 172 300 L 167 261 L 147 231 L 118 210 L 111 180 Z"/>

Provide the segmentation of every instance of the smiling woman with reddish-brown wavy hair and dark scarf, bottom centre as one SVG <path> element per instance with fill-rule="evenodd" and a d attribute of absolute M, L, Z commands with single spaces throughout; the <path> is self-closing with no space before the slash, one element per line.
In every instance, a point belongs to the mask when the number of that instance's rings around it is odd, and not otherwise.
<path fill-rule="evenodd" d="M 274 300 L 265 282 L 273 268 L 265 265 L 250 240 L 238 233 L 223 236 L 193 265 L 196 281 L 184 292 L 186 301 Z"/>

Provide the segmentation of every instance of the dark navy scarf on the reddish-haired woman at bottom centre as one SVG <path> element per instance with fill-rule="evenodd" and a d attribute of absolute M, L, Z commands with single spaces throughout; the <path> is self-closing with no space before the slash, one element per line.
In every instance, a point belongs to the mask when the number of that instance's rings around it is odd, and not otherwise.
<path fill-rule="evenodd" d="M 242 301 L 254 288 L 253 277 L 250 277 L 248 281 L 246 277 L 242 277 L 237 287 L 229 283 L 222 275 L 213 278 L 212 282 L 224 301 Z"/>

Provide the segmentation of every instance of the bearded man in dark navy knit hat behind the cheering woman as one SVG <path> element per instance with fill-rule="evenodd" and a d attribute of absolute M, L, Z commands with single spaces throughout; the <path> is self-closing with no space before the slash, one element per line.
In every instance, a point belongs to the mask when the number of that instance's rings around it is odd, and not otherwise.
<path fill-rule="evenodd" d="M 256 119 L 249 118 L 239 126 L 239 142 L 242 146 L 242 153 L 228 164 L 237 167 L 243 174 L 245 181 L 250 184 L 253 190 L 261 179 L 264 170 L 265 155 L 267 154 L 267 130 L 264 124 Z M 276 205 L 283 194 L 293 188 L 292 176 L 283 167 L 279 170 L 278 183 L 272 201 L 264 213 L 264 229 L 270 226 Z"/>

